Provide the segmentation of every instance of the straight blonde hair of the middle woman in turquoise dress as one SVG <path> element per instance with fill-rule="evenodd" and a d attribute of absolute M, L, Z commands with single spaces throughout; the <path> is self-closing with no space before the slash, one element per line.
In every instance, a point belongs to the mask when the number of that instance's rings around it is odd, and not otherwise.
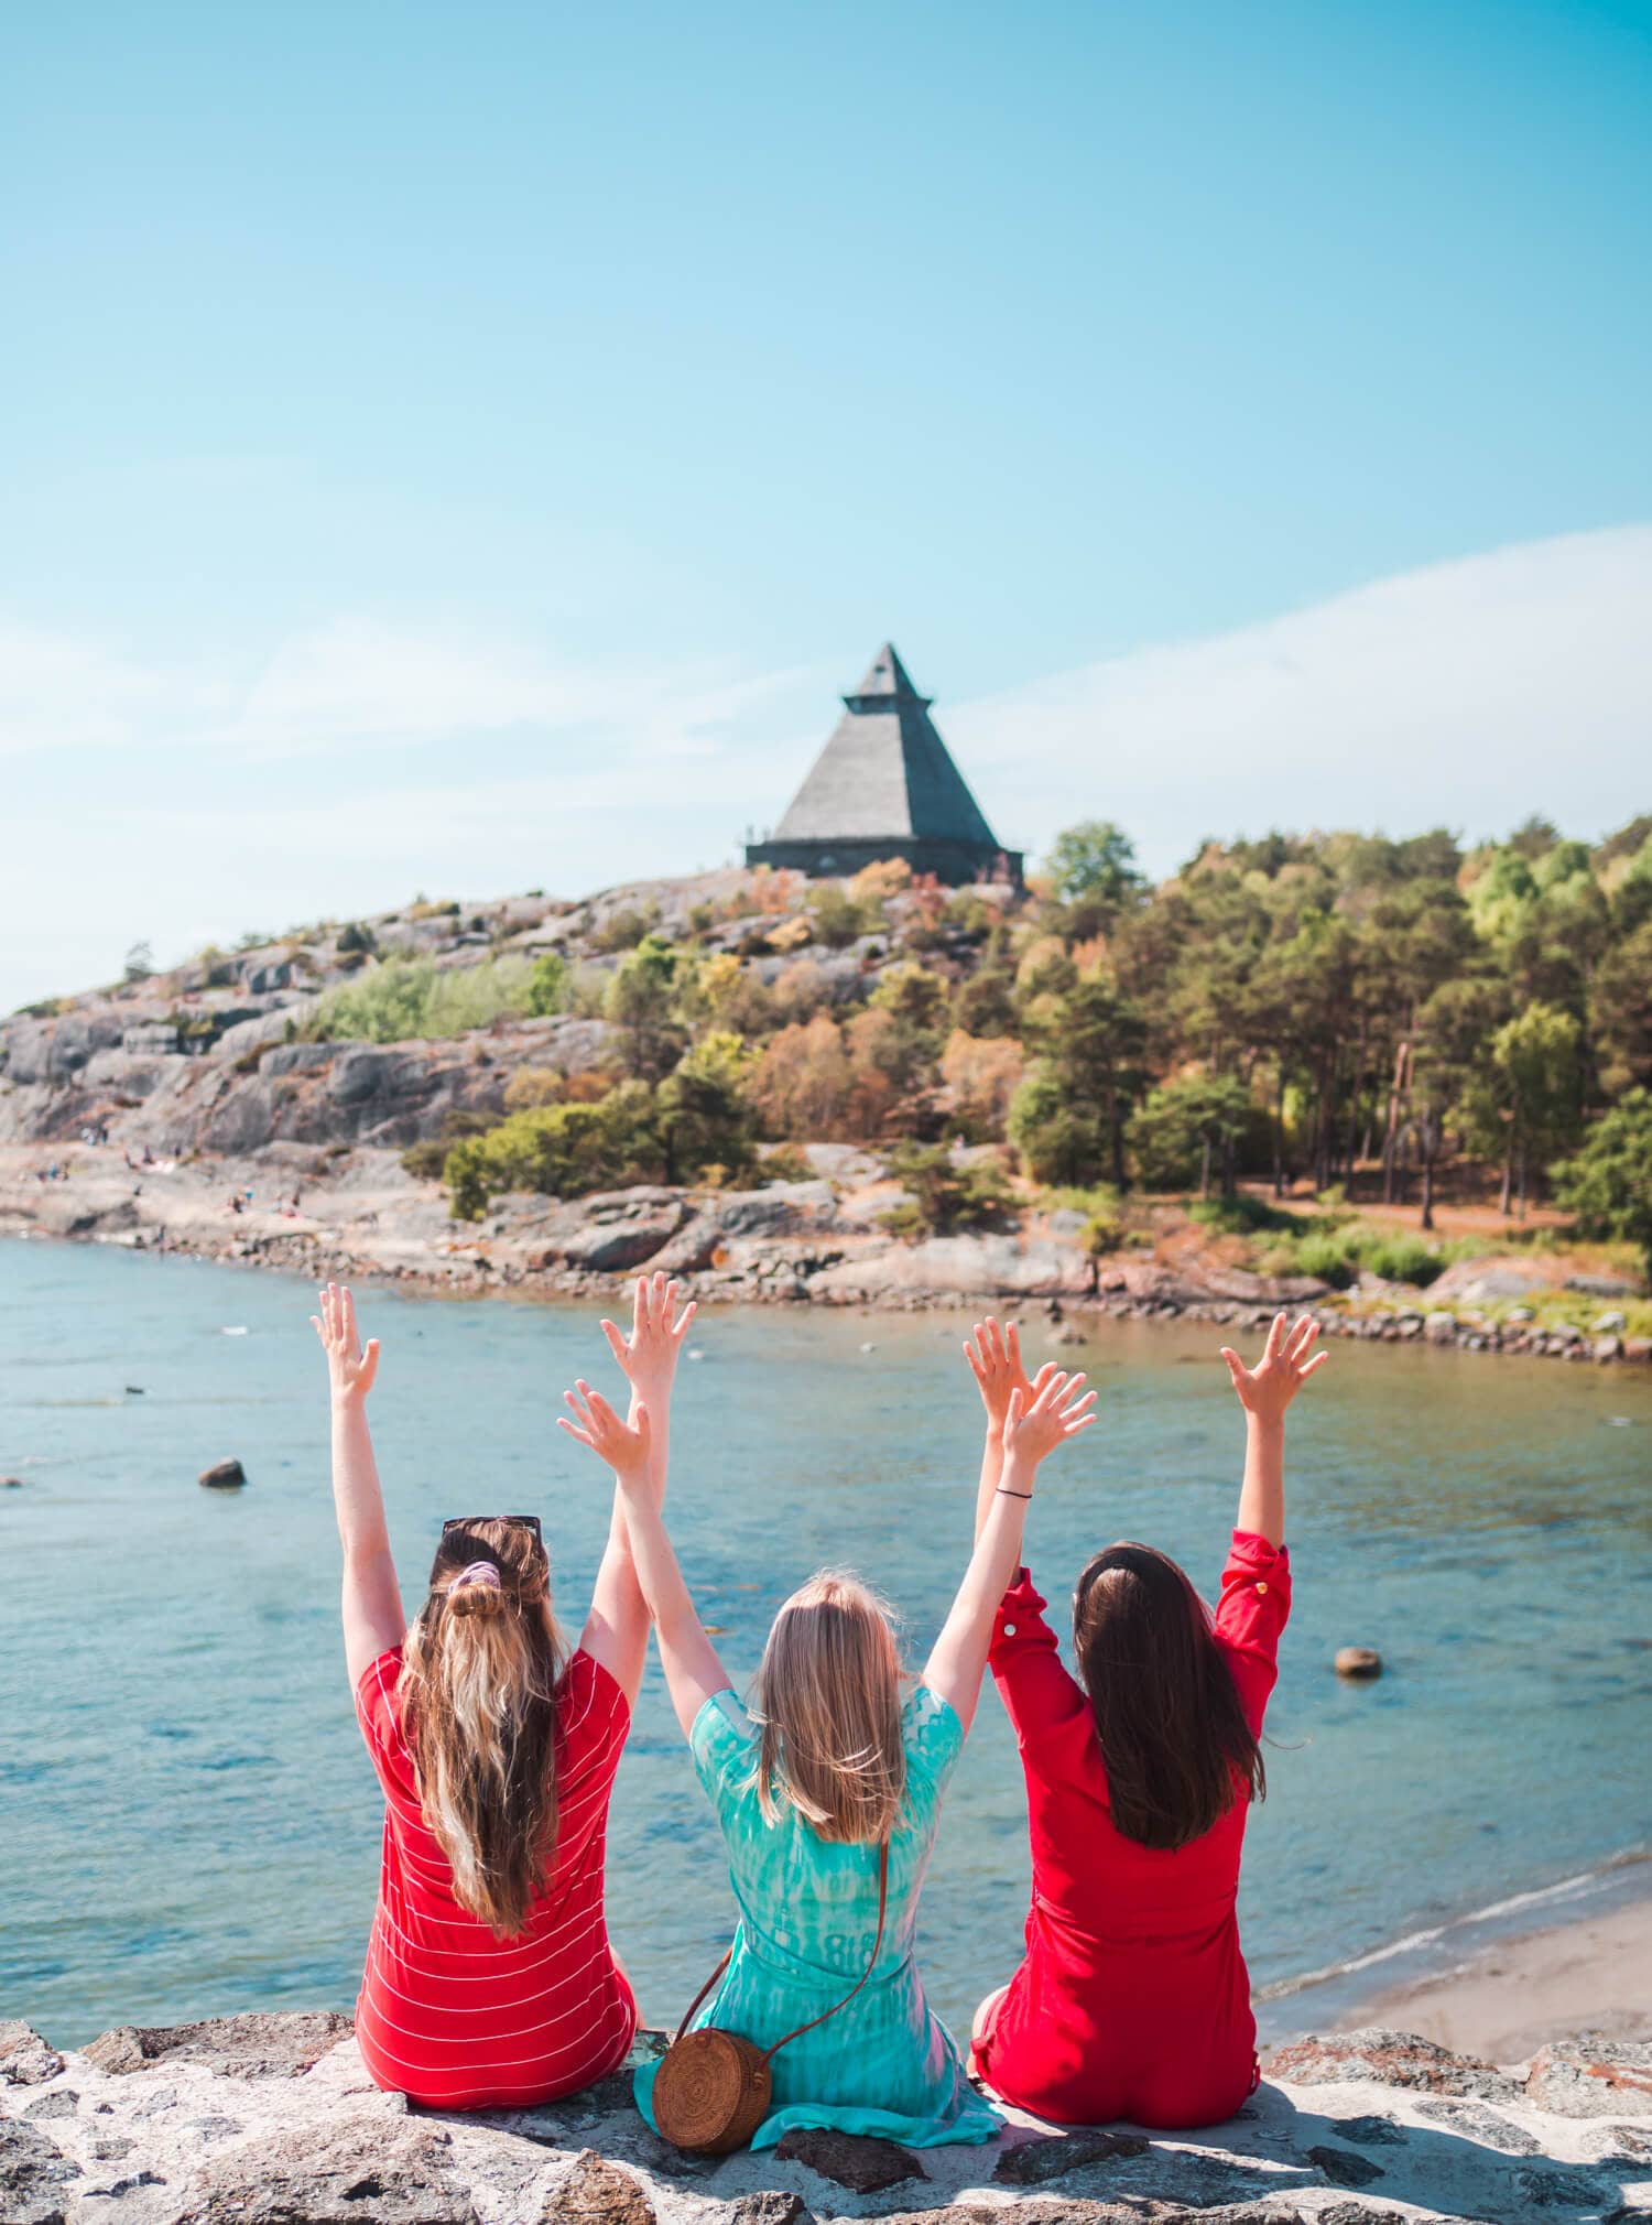
<path fill-rule="evenodd" d="M 763 1649 L 752 1713 L 769 1822 L 789 1804 L 825 1840 L 889 1838 L 907 1789 L 900 1649 L 858 1575 L 823 1569 L 792 1593 Z"/>

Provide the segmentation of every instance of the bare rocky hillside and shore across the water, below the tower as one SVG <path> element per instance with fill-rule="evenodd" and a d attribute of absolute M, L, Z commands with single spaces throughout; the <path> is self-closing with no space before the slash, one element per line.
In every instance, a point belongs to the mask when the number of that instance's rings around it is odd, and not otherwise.
<path fill-rule="evenodd" d="M 1238 1237 L 1214 1237 L 1176 1204 L 1132 1202 L 1132 1228 L 1098 1255 L 1087 1215 L 1023 1186 L 1001 1226 L 912 1239 L 883 1217 L 903 1204 L 878 1150 L 787 1146 L 754 1188 L 627 1188 L 578 1199 L 496 1197 L 482 1222 L 454 1222 L 429 1168 L 442 1141 L 489 1126 L 523 1088 L 576 1088 L 623 1064 L 616 1028 L 596 1017 L 623 937 L 643 919 L 667 939 L 734 966 L 767 992 L 803 968 L 827 1008 L 860 1001 L 903 959 L 903 903 L 889 932 L 847 948 L 798 943 L 803 914 L 747 914 L 749 877 L 703 874 L 609 890 L 587 903 L 416 903 L 276 943 L 207 952 L 151 975 L 53 999 L 0 1021 L 0 1233 L 113 1242 L 296 1268 L 394 1275 L 467 1290 L 607 1290 L 616 1275 L 663 1266 L 700 1297 L 865 1306 L 1043 1304 L 1116 1317 L 1267 1319 L 1318 1304 L 1312 1275 L 1261 1273 Z M 923 914 L 905 921 L 914 932 Z M 965 930 L 925 930 L 925 959 L 967 977 Z M 958 948 L 936 946 L 954 934 Z M 774 941 L 785 948 L 772 950 Z M 458 1032 L 360 1041 L 334 1030 L 338 1003 L 376 961 L 411 959 L 429 981 L 462 983 L 556 957 L 578 977 L 580 1010 L 498 1012 Z M 727 986 L 727 979 L 725 979 Z M 471 997 L 471 1003 L 476 999 Z M 520 999 L 518 999 L 520 1003 Z M 558 1079 L 560 1077 L 560 1079 Z M 569 1079 L 571 1077 L 571 1079 Z M 516 1092 L 516 1095 L 514 1095 Z M 945 1108 L 929 1108 L 945 1121 Z M 409 1173 L 402 1153 L 427 1146 Z M 965 1155 L 969 1157 L 969 1155 Z M 985 1157 L 992 1157 L 987 1150 Z M 418 1164 L 418 1155 L 416 1155 Z M 1427 1302 L 1363 1277 L 1325 1311 L 1327 1333 L 1459 1344 L 1565 1359 L 1652 1359 L 1619 1299 L 1632 1286 L 1588 1275 L 1565 1315 L 1530 1304 L 1545 1262 L 1465 1262 Z M 1452 1282 L 1452 1277 L 1456 1277 Z M 1585 1288 L 1588 1286 L 1588 1288 Z M 1612 1299 L 1605 1313 L 1590 1299 Z"/>

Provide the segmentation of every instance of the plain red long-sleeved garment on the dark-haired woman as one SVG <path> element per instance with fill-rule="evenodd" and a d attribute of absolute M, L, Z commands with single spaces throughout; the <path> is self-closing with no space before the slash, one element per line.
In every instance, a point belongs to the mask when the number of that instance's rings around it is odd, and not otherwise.
<path fill-rule="evenodd" d="M 1063 2125 L 1221 2123 L 1256 2067 L 1234 1914 L 1250 1804 L 1241 1793 L 1174 1851 L 1125 1838 L 1089 1698 L 1043 1611 L 1023 1569 L 989 1660 L 1027 1778 L 1027 1958 L 976 2043 L 976 2069 L 1005 2100 Z M 1256 1736 L 1287 1615 L 1285 1549 L 1234 1531 L 1214 1635 Z"/>

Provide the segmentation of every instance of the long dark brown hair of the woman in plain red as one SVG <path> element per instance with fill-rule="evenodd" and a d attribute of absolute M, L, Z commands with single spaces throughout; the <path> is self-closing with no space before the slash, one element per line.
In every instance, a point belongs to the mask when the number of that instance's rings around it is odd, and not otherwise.
<path fill-rule="evenodd" d="M 1205 1602 L 1167 1553 L 1109 1544 L 1072 1600 L 1072 1635 L 1107 1764 L 1114 1824 L 1187 1847 L 1267 1771 Z"/>

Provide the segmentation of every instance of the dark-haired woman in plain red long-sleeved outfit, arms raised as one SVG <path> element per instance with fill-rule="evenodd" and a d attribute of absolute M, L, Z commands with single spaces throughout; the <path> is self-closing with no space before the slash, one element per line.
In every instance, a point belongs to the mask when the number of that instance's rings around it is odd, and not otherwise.
<path fill-rule="evenodd" d="M 1185 2129 L 1256 2085 L 1234 1898 L 1290 1615 L 1285 1408 L 1325 1359 L 1316 1333 L 1287 1335 L 1281 1313 L 1254 1371 L 1223 1351 L 1247 1451 L 1214 1615 L 1145 1544 L 1107 1546 L 1078 1578 L 1078 1678 L 1025 1569 L 998 1606 L 989 1660 L 1027 1778 L 1032 1909 L 1021 1969 L 976 2011 L 974 2069 L 1036 2116 Z M 1032 1386 L 1014 1328 L 978 1326 L 965 1355 L 987 1406 L 985 1506 L 1009 1397 Z"/>

